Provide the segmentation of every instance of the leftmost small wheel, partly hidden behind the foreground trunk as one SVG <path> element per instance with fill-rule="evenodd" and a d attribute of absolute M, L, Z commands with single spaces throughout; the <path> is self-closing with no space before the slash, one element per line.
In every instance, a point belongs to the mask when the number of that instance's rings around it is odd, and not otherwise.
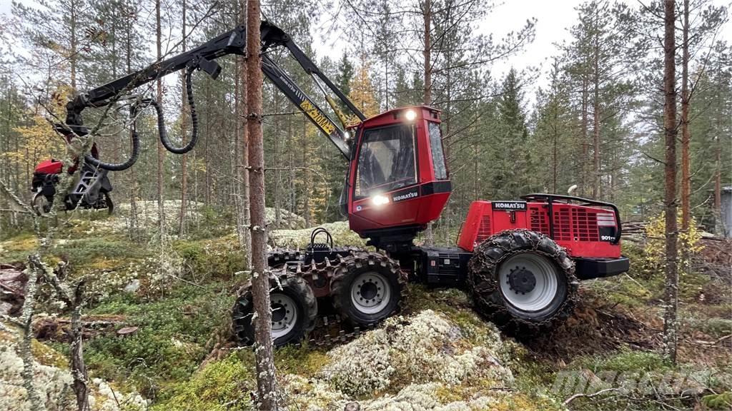
<path fill-rule="evenodd" d="M 279 286 L 275 279 L 269 282 L 275 347 L 302 341 L 305 334 L 315 328 L 315 316 L 318 314 L 318 303 L 305 279 L 284 272 L 278 278 Z M 231 312 L 231 327 L 239 345 L 254 344 L 252 301 L 252 284 L 249 282 L 242 287 Z"/>

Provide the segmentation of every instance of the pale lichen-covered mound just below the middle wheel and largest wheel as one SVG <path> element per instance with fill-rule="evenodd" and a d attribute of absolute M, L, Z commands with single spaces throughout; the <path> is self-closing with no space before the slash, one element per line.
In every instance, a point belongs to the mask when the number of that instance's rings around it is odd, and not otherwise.
<path fill-rule="evenodd" d="M 321 377 L 351 396 L 423 382 L 460 384 L 467 378 L 513 383 L 496 347 L 470 347 L 460 328 L 431 310 L 411 318 L 392 317 L 377 330 L 329 352 Z"/>

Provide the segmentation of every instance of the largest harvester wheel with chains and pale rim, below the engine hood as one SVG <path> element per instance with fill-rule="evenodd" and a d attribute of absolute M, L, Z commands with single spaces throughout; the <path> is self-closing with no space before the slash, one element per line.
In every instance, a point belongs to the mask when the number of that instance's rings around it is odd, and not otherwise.
<path fill-rule="evenodd" d="M 575 263 L 551 238 L 530 230 L 498 233 L 468 263 L 477 311 L 504 331 L 554 328 L 574 309 Z"/>

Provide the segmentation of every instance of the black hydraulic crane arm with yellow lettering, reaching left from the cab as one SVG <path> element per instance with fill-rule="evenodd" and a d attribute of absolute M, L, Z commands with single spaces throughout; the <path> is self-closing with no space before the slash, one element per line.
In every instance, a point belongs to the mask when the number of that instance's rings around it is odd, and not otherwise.
<path fill-rule="evenodd" d="M 310 60 L 305 53 L 295 44 L 291 37 L 286 34 L 282 29 L 278 28 L 272 23 L 263 21 L 261 23 L 261 51 L 262 51 L 262 71 L 272 81 L 273 84 L 280 91 L 285 94 L 290 101 L 305 113 L 305 116 L 315 124 L 315 127 L 323 132 L 326 137 L 331 140 L 332 143 L 338 148 L 346 159 L 350 159 L 351 147 L 348 144 L 348 138 L 346 137 L 346 116 L 343 115 L 340 108 L 335 104 L 335 101 L 330 97 L 327 89 L 332 91 L 341 102 L 351 110 L 352 113 L 360 120 L 365 120 L 365 116 L 351 100 L 340 91 L 337 86 L 326 76 L 320 69 Z M 166 59 L 155 64 L 141 69 L 138 72 L 133 72 L 122 78 L 111 81 L 87 91 L 84 94 L 78 95 L 71 102 L 67 104 L 67 118 L 66 127 L 59 127 L 57 129 L 65 132 L 67 135 L 69 129 L 75 132 L 77 135 L 86 135 L 87 130 L 83 127 L 83 120 L 81 118 L 81 112 L 85 108 L 89 107 L 103 107 L 110 104 L 114 99 L 118 99 L 121 94 L 128 94 L 135 88 L 143 86 L 147 83 L 151 83 L 158 78 L 165 75 L 177 72 L 182 69 L 187 69 L 187 75 L 190 76 L 190 72 L 195 69 L 201 69 L 208 73 L 212 78 L 217 78 L 221 72 L 220 65 L 215 61 L 223 56 L 229 54 L 238 54 L 244 56 L 246 54 L 246 29 L 244 26 L 239 26 L 236 29 L 228 31 L 224 34 L 220 34 L 203 45 L 194 48 L 193 50 L 181 53 L 177 56 L 173 56 L 170 59 Z M 268 56 L 268 52 L 278 47 L 285 47 L 299 63 L 299 65 L 307 72 L 308 75 L 313 78 L 313 81 L 318 88 L 323 91 L 326 97 L 326 101 L 329 103 L 331 108 L 337 114 L 341 126 L 337 125 L 335 121 L 328 116 L 324 110 L 318 107 L 317 104 L 311 99 L 305 91 L 302 90 L 292 80 L 285 71 L 280 68 L 274 60 Z M 190 78 L 187 78 L 188 87 L 190 88 Z M 189 93 L 190 94 L 190 93 Z M 190 99 L 192 97 L 189 97 Z M 149 100 L 147 100 L 149 102 Z M 149 102 L 154 105 L 154 102 Z M 164 124 L 162 121 L 162 110 L 155 107 L 158 112 L 158 123 L 160 128 L 161 137 L 164 134 Z M 195 128 L 195 123 L 194 123 Z M 194 130 L 195 132 L 195 130 Z M 167 137 L 165 137 L 167 138 Z M 130 164 L 131 165 L 131 164 Z M 102 166 L 103 167 L 103 166 Z M 128 166 L 129 167 L 129 166 Z"/>

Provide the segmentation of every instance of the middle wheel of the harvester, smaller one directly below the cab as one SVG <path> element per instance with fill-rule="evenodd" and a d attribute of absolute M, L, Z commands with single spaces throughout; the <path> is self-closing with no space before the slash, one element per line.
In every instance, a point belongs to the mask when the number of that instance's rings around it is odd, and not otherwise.
<path fill-rule="evenodd" d="M 343 257 L 331 282 L 333 306 L 357 326 L 374 325 L 398 312 L 406 290 L 399 264 L 376 252 Z"/>

